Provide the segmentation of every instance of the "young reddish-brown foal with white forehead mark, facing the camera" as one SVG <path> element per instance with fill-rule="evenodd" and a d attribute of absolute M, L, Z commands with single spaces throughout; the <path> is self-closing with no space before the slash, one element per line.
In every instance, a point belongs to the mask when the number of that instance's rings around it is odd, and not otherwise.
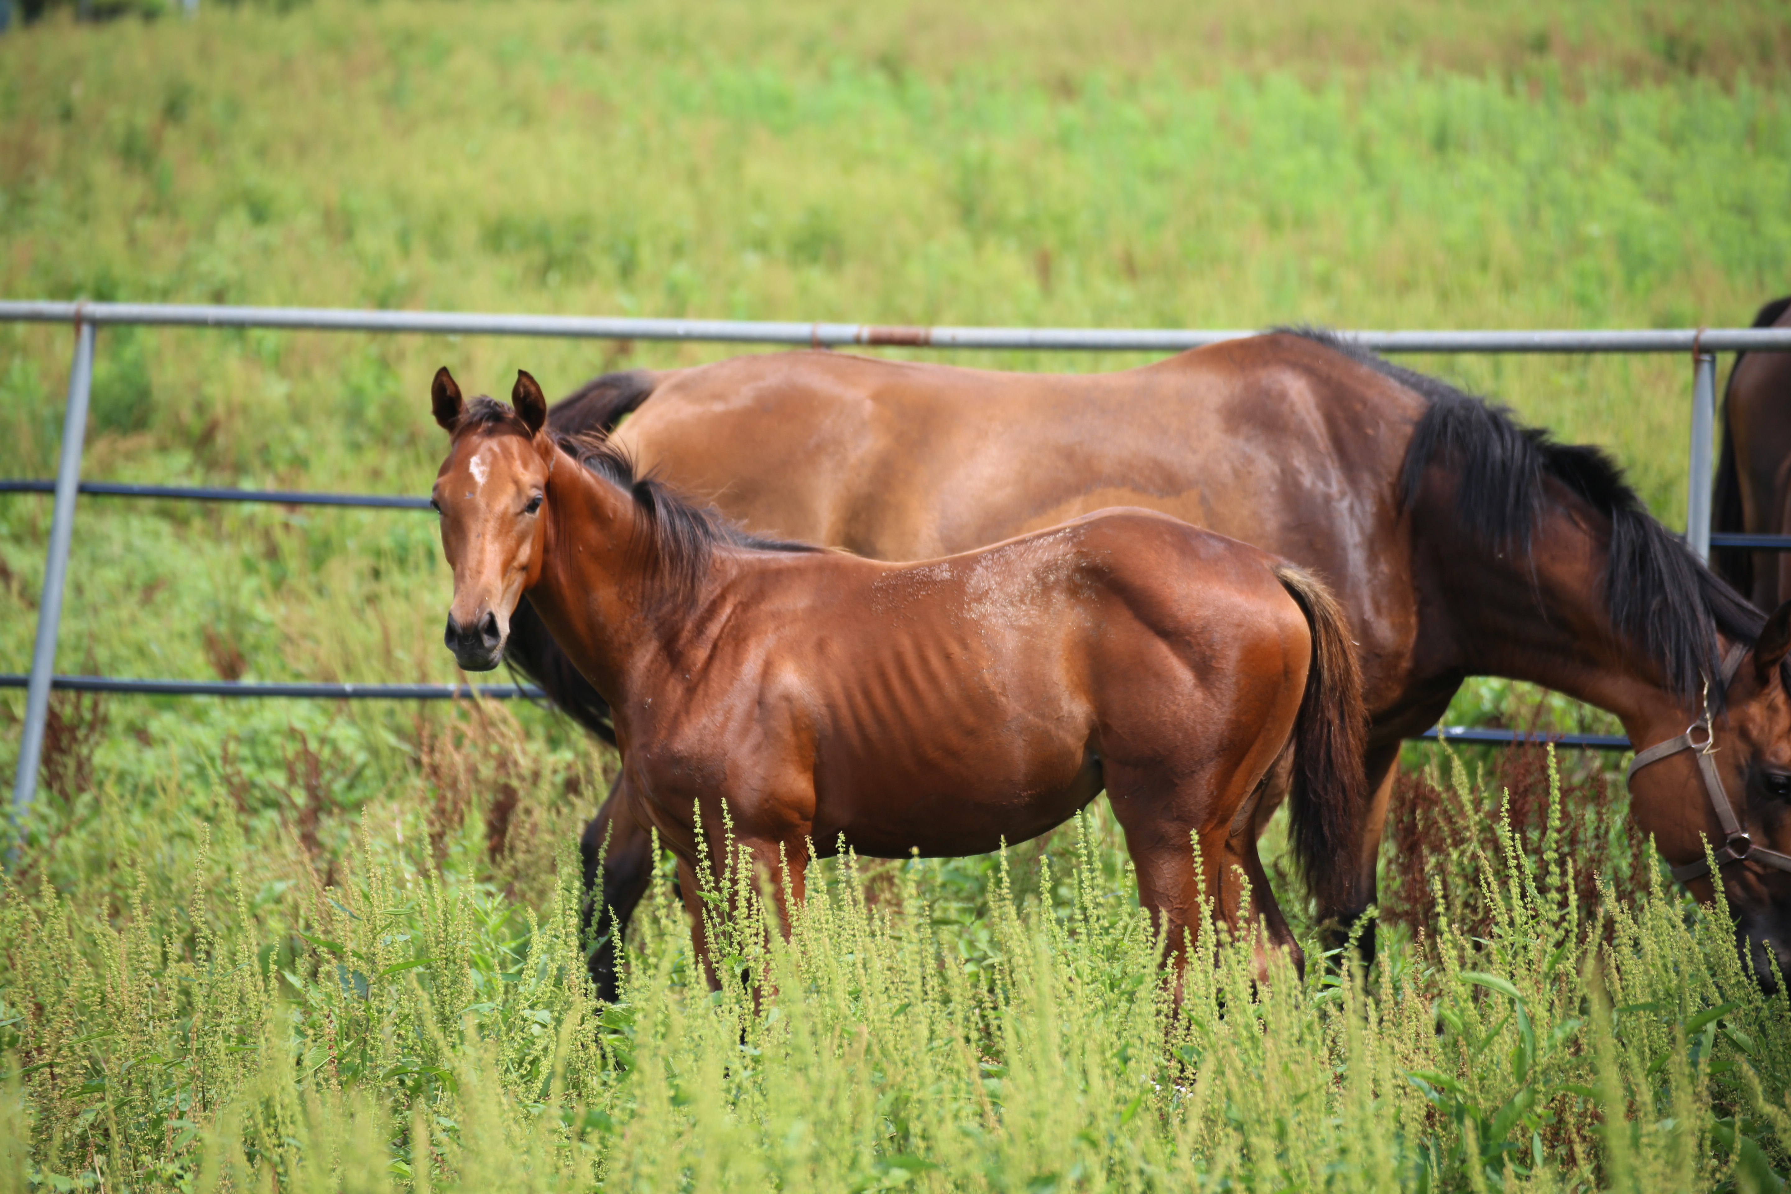
<path fill-rule="evenodd" d="M 462 403 L 446 369 L 432 399 L 451 435 L 432 498 L 448 646 L 496 668 L 528 596 L 609 704 L 616 798 L 677 854 L 704 956 L 693 868 L 698 832 L 724 857 L 724 802 L 801 900 L 810 843 L 981 854 L 1105 788 L 1168 942 L 1211 897 L 1241 927 L 1243 875 L 1298 958 L 1252 818 L 1286 755 L 1298 854 L 1347 888 L 1329 859 L 1361 825 L 1361 682 L 1341 610 L 1298 567 L 1150 510 L 926 564 L 756 541 L 618 448 L 544 433 L 528 374 L 514 410 Z"/>

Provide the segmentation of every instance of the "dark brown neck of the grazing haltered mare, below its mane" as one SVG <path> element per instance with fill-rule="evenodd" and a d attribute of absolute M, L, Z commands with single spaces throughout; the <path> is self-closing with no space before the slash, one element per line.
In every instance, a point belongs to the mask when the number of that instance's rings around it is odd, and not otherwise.
<path fill-rule="evenodd" d="M 1456 530 L 1454 542 L 1463 535 Z M 1637 743 L 1671 738 L 1696 716 L 1612 623 L 1603 516 L 1555 505 L 1537 521 L 1528 555 L 1456 548 L 1444 559 L 1469 675 L 1530 680 L 1583 700 L 1617 714 Z"/>

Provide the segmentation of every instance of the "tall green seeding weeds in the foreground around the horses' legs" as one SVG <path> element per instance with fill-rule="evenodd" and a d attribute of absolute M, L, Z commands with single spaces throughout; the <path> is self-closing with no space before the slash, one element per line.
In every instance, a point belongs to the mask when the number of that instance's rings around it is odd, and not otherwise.
<path fill-rule="evenodd" d="M 537 904 L 371 816 L 337 884 L 272 900 L 202 834 L 183 899 L 154 857 L 116 909 L 9 888 L 0 1151 L 14 1189 L 1777 1189 L 1791 1008 L 1723 908 L 1581 902 L 1560 834 L 1501 820 L 1483 933 L 1263 981 L 1209 929 L 1177 1004 L 1105 822 L 1033 895 L 998 857 L 974 965 L 933 915 L 947 863 L 874 900 L 851 854 L 817 863 L 784 933 L 724 845 L 720 988 L 661 881 L 614 1004 L 568 836 Z"/>

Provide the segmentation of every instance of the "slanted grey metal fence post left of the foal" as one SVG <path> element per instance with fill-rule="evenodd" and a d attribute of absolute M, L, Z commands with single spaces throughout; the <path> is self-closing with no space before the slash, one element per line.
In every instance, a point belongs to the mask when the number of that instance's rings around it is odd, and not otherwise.
<path fill-rule="evenodd" d="M 56 671 L 56 632 L 63 621 L 63 582 L 68 580 L 68 542 L 75 532 L 75 489 L 81 483 L 81 446 L 88 433 L 88 394 L 93 388 L 93 324 L 75 324 L 75 360 L 68 367 L 68 410 L 63 414 L 63 456 L 56 465 L 56 508 L 50 514 L 50 555 L 43 566 L 38 601 L 38 644 L 30 653 L 25 689 L 25 736 L 18 743 L 13 777 L 13 822 L 23 820 L 38 791 L 43 723 L 50 712 L 50 675 Z"/>

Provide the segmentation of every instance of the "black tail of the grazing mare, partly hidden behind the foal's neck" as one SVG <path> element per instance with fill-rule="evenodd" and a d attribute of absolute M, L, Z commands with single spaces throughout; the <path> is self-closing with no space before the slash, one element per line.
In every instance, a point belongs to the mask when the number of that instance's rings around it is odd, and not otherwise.
<path fill-rule="evenodd" d="M 659 374 L 645 369 L 629 372 L 605 372 L 573 390 L 568 397 L 553 403 L 548 410 L 548 426 L 561 435 L 587 435 L 591 431 L 609 433 L 616 430 L 623 415 L 639 410 L 641 403 L 652 397 L 659 385 Z M 609 702 L 596 695 L 591 682 L 578 675 L 578 669 L 566 659 L 548 628 L 541 625 L 539 614 L 523 598 L 510 614 L 510 637 L 503 646 L 503 659 L 512 668 L 541 686 L 566 716 L 591 730 L 605 743 L 616 743 L 616 727 L 609 718 Z"/>

